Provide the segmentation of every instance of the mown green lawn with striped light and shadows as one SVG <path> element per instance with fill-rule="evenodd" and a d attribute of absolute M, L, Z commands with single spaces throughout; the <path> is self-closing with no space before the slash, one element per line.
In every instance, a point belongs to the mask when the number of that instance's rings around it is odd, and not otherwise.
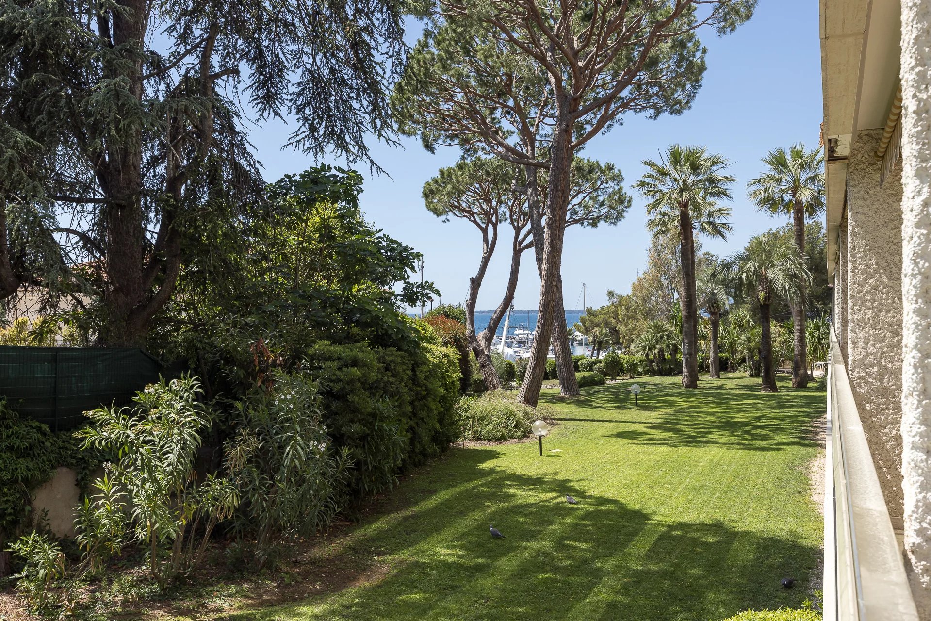
<path fill-rule="evenodd" d="M 452 449 L 326 547 L 324 565 L 377 577 L 235 618 L 668 621 L 800 605 L 821 553 L 805 466 L 825 393 L 679 382 L 638 380 L 639 407 L 631 382 L 546 391 L 559 425 L 544 456 L 535 439 Z"/>

